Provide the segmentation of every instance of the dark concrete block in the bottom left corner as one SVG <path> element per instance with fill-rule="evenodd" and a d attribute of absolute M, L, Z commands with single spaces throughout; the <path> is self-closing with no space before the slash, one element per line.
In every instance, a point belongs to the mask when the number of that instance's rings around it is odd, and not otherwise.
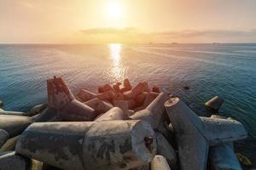
<path fill-rule="evenodd" d="M 0 156 L 1 170 L 30 170 L 31 160 L 14 152 Z"/>

